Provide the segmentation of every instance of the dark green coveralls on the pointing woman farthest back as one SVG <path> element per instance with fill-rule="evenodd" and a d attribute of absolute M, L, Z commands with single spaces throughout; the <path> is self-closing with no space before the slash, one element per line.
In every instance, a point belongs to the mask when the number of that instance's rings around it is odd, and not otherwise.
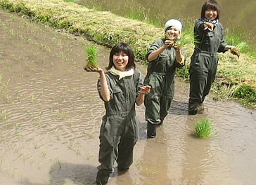
<path fill-rule="evenodd" d="M 190 94 L 188 111 L 197 111 L 198 105 L 203 103 L 209 94 L 211 85 L 215 81 L 218 64 L 218 53 L 224 53 L 224 29 L 221 23 L 214 27 L 214 31 L 204 30 L 203 22 L 196 22 L 194 27 L 196 39 L 194 53 L 191 57 Z M 196 106 L 194 106 L 196 105 Z M 196 113 L 195 113 L 196 114 Z"/>

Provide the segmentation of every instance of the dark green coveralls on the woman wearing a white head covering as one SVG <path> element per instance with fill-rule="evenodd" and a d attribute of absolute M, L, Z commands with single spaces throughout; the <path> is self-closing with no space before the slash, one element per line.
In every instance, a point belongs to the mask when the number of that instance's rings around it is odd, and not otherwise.
<path fill-rule="evenodd" d="M 146 58 L 154 50 L 165 44 L 165 39 L 157 39 L 148 50 Z M 184 49 L 181 48 L 184 56 Z M 185 64 L 185 61 L 184 61 Z M 155 60 L 148 62 L 148 72 L 144 85 L 151 85 L 151 92 L 145 95 L 146 121 L 151 124 L 161 124 L 167 116 L 174 97 L 174 74 L 176 67 L 183 67 L 176 60 L 176 51 L 167 47 Z"/>

